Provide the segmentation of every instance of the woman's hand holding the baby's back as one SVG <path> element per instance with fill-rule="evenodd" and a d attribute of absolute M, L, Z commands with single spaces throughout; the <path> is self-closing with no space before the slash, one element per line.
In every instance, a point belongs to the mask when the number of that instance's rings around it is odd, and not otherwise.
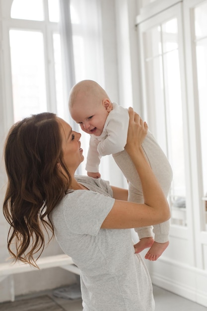
<path fill-rule="evenodd" d="M 141 147 L 141 144 L 147 134 L 148 126 L 146 122 L 140 118 L 138 113 L 136 113 L 132 107 L 129 108 L 129 128 L 127 135 L 127 144 L 125 149 L 129 155 L 136 153 Z"/>

